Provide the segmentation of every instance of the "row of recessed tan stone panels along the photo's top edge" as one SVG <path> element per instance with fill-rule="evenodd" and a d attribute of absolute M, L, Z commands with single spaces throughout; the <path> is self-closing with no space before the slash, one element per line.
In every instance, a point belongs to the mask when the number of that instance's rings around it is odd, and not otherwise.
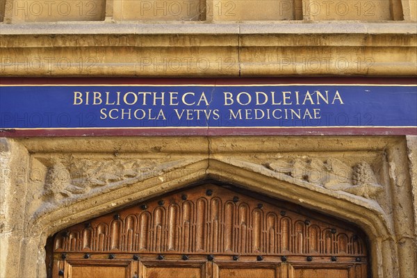
<path fill-rule="evenodd" d="M 4 22 L 416 21 L 415 0 L 1 0 Z"/>

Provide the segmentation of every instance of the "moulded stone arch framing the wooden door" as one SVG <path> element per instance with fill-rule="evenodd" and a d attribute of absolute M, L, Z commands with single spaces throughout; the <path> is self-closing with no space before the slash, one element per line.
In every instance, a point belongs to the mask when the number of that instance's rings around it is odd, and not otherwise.
<path fill-rule="evenodd" d="M 198 181 L 215 179 L 354 222 L 370 237 L 373 275 L 375 277 L 395 277 L 391 261 L 386 261 L 390 258 L 391 248 L 389 250 L 384 248 L 393 237 L 392 231 L 388 226 L 384 211 L 369 200 L 349 195 L 337 195 L 332 191 L 316 188 L 308 183 L 303 185 L 289 183 L 274 177 L 271 173 L 249 170 L 243 165 L 232 165 L 214 159 L 199 161 L 187 167 L 188 171 L 181 171 L 187 173 L 183 176 L 181 176 L 181 172 L 177 174 L 167 172 L 160 177 L 122 187 L 43 215 L 35 221 L 35 227 L 40 227 L 38 232 L 42 234 L 38 250 L 42 250 L 48 236 L 65 229 L 65 227 Z M 169 179 L 168 177 L 175 178 Z M 91 206 L 91 204 L 95 205 Z M 51 223 L 54 223 L 54 226 L 51 226 Z M 40 263 L 38 265 L 40 270 L 38 276 L 40 277 L 43 276 L 43 268 L 44 266 Z"/>

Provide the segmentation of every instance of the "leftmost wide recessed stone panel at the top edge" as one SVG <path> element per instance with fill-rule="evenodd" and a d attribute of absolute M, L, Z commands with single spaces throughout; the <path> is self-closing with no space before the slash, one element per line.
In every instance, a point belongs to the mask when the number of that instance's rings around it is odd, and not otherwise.
<path fill-rule="evenodd" d="M 99 21 L 105 10 L 105 0 L 15 0 L 5 5 L 12 22 Z"/>

